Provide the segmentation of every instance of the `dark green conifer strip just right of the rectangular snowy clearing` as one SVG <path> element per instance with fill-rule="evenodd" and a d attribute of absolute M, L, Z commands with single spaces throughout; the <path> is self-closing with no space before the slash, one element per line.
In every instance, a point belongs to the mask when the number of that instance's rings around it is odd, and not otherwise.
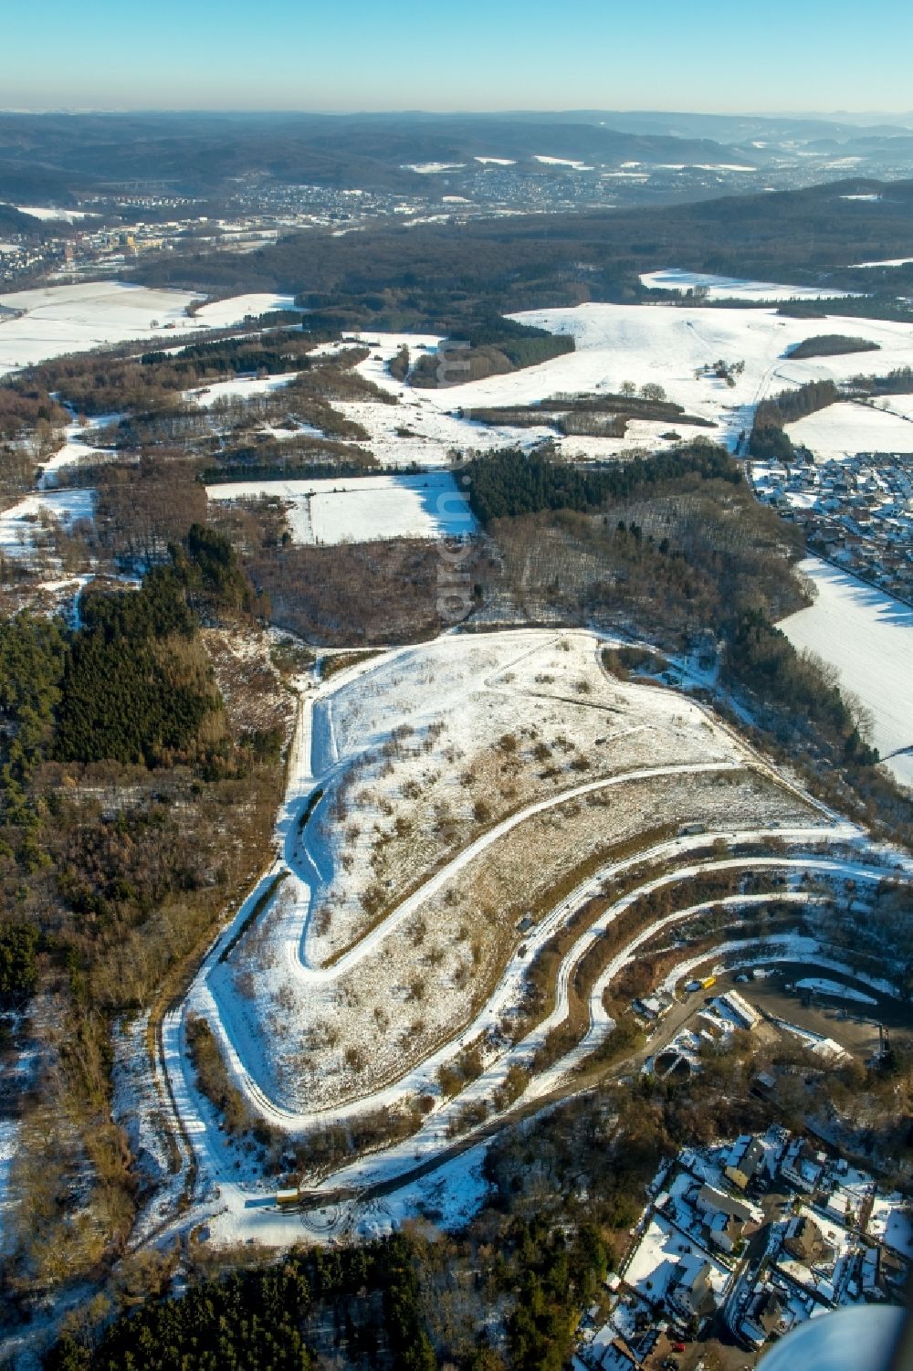
<path fill-rule="evenodd" d="M 466 466 L 469 502 L 483 526 L 506 515 L 540 510 L 596 510 L 662 481 L 696 476 L 733 485 L 742 472 L 725 448 L 694 443 L 672 452 L 636 457 L 605 468 L 580 468 L 544 454 L 504 448 Z"/>

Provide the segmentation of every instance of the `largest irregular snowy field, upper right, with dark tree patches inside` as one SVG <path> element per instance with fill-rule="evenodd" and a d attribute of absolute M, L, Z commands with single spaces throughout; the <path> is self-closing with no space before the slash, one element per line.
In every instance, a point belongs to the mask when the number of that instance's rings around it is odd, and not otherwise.
<path fill-rule="evenodd" d="M 750 428 L 757 402 L 772 391 L 812 380 L 842 381 L 861 370 L 884 373 L 909 365 L 913 358 L 913 328 L 909 325 L 853 319 L 853 335 L 877 343 L 877 354 L 862 361 L 858 354 L 791 361 L 786 354 L 796 343 L 824 328 L 836 330 L 838 325 L 780 318 L 775 310 L 581 304 L 526 311 L 514 318 L 554 333 L 570 333 L 576 351 L 539 366 L 462 384 L 459 352 L 455 351 L 450 358 L 450 376 L 458 384 L 426 391 L 396 381 L 388 363 L 403 344 L 410 348 L 413 361 L 433 351 L 440 341 L 437 337 L 392 333 L 359 337 L 372 355 L 358 370 L 395 395 L 399 403 L 358 402 L 339 407 L 367 429 L 369 446 L 378 461 L 435 465 L 447 461 L 454 448 L 492 451 L 507 444 L 529 448 L 544 437 L 551 437 L 569 458 L 606 458 L 636 447 L 669 447 L 680 440 L 664 436 L 669 433 L 684 439 L 705 435 L 733 447 L 739 435 Z M 744 372 L 735 377 L 733 387 L 716 377 L 695 376 L 718 359 L 744 362 Z M 670 420 L 633 421 L 622 439 L 606 439 L 558 436 L 546 425 L 521 429 L 473 422 L 476 409 L 528 406 L 558 393 L 611 393 L 625 381 L 637 387 L 659 384 L 688 414 L 716 426 L 692 428 Z"/>

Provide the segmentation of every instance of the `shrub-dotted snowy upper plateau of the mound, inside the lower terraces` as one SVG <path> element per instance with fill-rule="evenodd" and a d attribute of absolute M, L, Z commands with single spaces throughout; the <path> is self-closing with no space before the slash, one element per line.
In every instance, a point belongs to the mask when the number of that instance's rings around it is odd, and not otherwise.
<path fill-rule="evenodd" d="M 295 755 L 313 757 L 324 799 L 303 840 L 285 824 L 291 875 L 256 932 L 192 993 L 255 1108 L 300 1128 L 321 1106 L 365 1108 L 387 1082 L 372 1108 L 433 1091 L 461 1024 L 476 1013 L 472 1032 L 495 1028 L 520 1002 L 525 957 L 554 931 L 550 916 L 521 935 L 524 912 L 613 840 L 695 816 L 746 835 L 761 813 L 807 831 L 809 809 L 746 773 L 699 709 L 610 681 L 595 647 L 584 633 L 451 635 L 369 662 L 317 703 Z M 577 749 L 595 779 L 569 765 Z M 380 912 L 359 899 L 374 886 Z M 414 1079 L 398 1079 L 410 1065 Z"/>

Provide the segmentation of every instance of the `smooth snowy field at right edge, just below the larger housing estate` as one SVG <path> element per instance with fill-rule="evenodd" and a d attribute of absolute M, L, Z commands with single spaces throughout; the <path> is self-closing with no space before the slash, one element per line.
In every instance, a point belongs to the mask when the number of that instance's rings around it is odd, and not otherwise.
<path fill-rule="evenodd" d="M 831 662 L 871 710 L 872 740 L 883 757 L 912 749 L 887 765 L 913 787 L 913 610 L 818 558 L 799 565 L 818 598 L 780 628 L 794 647 Z"/>

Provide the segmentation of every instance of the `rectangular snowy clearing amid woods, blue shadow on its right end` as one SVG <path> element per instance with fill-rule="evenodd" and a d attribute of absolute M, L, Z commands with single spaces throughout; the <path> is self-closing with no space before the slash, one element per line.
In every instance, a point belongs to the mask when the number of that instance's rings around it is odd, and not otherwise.
<path fill-rule="evenodd" d="M 352 476 L 208 485 L 211 500 L 277 496 L 291 505 L 295 543 L 334 546 L 378 537 L 465 537 L 476 521 L 450 472 L 422 476 Z"/>

